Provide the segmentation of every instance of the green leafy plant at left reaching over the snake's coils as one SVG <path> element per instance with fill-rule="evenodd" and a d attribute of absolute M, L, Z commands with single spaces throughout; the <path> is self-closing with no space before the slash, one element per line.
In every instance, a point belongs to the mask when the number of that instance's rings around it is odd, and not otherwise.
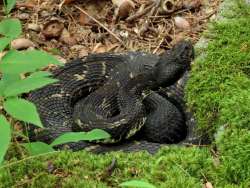
<path fill-rule="evenodd" d="M 10 2 L 10 1 L 9 1 Z M 8 4 L 6 10 L 9 12 Z M 51 78 L 51 73 L 39 71 L 49 64 L 61 65 L 53 56 L 39 50 L 17 51 L 11 49 L 10 42 L 20 36 L 21 23 L 18 19 L 4 19 L 0 22 L 0 52 L 8 49 L 0 60 L 0 105 L 3 106 L 3 114 L 0 116 L 0 163 L 11 142 L 11 124 L 7 118 L 9 115 L 22 122 L 33 124 L 43 128 L 36 107 L 28 100 L 21 98 L 22 94 L 47 84 L 57 82 Z M 2 103 L 2 104 L 1 104 Z M 8 115 L 7 115 L 8 114 Z M 109 138 L 110 135 L 102 130 L 91 132 L 66 133 L 55 139 L 50 145 L 42 142 L 23 144 L 31 155 L 54 151 L 53 146 L 66 142 L 79 140 L 96 140 Z"/>

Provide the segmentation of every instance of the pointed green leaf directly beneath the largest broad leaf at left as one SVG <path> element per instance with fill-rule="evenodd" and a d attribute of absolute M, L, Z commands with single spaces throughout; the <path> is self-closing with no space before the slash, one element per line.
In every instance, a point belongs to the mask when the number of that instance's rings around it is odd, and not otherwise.
<path fill-rule="evenodd" d="M 31 76 L 23 80 L 18 80 L 14 83 L 11 83 L 5 88 L 3 94 L 5 97 L 17 96 L 22 93 L 28 93 L 31 90 L 57 82 L 56 79 L 42 77 L 44 75 L 47 74 L 41 72 L 33 73 Z"/>

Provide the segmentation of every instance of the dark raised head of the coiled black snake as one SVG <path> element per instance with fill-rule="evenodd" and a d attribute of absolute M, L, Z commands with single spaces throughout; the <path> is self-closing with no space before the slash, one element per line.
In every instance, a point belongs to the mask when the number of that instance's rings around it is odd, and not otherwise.
<path fill-rule="evenodd" d="M 167 87 L 179 80 L 190 70 L 194 59 L 194 47 L 190 41 L 180 41 L 161 55 L 155 65 L 154 77 L 158 86 Z"/>

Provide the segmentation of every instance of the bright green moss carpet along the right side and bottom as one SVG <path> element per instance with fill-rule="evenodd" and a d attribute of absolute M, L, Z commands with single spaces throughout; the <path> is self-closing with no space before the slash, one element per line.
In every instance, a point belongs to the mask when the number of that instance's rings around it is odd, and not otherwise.
<path fill-rule="evenodd" d="M 0 167 L 0 187 L 118 187 L 140 179 L 156 187 L 250 187 L 250 7 L 225 0 L 224 17 L 210 24 L 208 45 L 198 57 L 188 82 L 187 101 L 198 129 L 215 141 L 209 147 L 169 146 L 156 155 L 86 151 L 58 152 L 24 158 Z M 227 8 L 226 8 L 227 7 Z M 117 167 L 106 169 L 112 160 Z"/>

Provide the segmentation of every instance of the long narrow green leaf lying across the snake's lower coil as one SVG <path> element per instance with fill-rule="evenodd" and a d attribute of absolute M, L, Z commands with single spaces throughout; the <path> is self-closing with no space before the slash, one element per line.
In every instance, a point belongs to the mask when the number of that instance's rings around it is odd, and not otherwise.
<path fill-rule="evenodd" d="M 110 135 L 101 129 L 94 129 L 89 132 L 68 132 L 56 138 L 50 145 L 55 146 L 80 140 L 93 141 L 107 138 L 110 138 Z"/>

